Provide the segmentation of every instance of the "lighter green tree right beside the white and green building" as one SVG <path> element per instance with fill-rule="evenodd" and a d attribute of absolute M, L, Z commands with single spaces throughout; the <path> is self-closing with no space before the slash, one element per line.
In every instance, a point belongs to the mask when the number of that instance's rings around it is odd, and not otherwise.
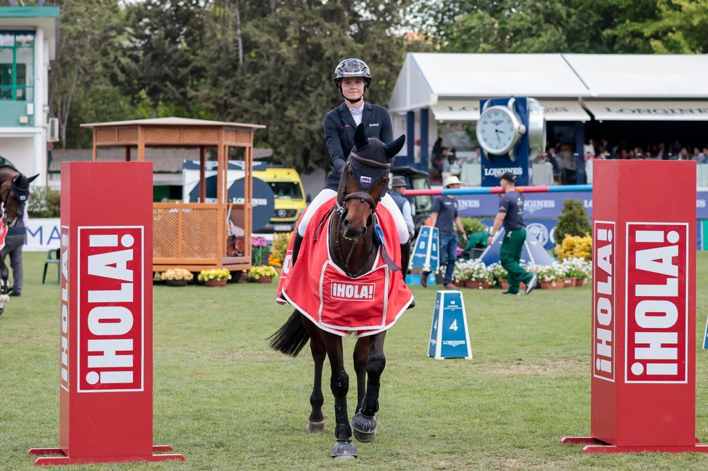
<path fill-rule="evenodd" d="M 122 30 L 118 0 L 64 0 L 57 59 L 49 76 L 52 112 L 59 118 L 59 140 L 67 146 L 67 126 L 76 97 L 85 86 L 108 83 L 107 62 L 113 57 Z"/>

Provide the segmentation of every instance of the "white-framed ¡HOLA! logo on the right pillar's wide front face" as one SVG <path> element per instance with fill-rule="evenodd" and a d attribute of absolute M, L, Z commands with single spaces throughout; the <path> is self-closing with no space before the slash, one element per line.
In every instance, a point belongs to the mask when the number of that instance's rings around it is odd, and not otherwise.
<path fill-rule="evenodd" d="M 686 383 L 688 224 L 627 223 L 626 383 Z"/>

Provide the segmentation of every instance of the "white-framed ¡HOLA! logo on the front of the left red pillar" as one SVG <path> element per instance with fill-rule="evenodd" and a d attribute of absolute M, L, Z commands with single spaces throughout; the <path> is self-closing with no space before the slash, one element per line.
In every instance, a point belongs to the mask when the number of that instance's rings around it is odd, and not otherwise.
<path fill-rule="evenodd" d="M 79 227 L 79 392 L 142 391 L 144 228 Z"/>

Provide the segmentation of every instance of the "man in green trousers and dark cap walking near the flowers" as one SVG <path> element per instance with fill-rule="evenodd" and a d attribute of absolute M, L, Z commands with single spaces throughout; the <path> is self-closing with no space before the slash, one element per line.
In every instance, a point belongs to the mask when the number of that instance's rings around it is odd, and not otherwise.
<path fill-rule="evenodd" d="M 530 274 L 519 264 L 521 249 L 526 240 L 526 224 L 524 223 L 524 196 L 516 191 L 516 177 L 511 172 L 501 175 L 501 188 L 504 194 L 499 200 L 499 211 L 494 219 L 487 245 L 491 245 L 494 235 L 504 224 L 504 240 L 501 244 L 501 266 L 508 272 L 509 290 L 503 294 L 519 293 L 519 284 L 526 284 L 526 294 L 538 285 L 537 274 Z"/>

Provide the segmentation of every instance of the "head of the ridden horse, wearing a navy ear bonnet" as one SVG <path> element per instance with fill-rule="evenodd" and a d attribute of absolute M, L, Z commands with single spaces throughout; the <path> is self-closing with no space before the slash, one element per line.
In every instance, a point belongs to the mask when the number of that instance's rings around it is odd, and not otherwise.
<path fill-rule="evenodd" d="M 367 138 L 363 124 L 354 132 L 354 149 L 349 153 L 339 181 L 337 203 L 341 208 L 344 236 L 360 238 L 372 221 L 376 206 L 389 187 L 391 159 L 396 156 L 406 136 L 384 144 Z"/>

